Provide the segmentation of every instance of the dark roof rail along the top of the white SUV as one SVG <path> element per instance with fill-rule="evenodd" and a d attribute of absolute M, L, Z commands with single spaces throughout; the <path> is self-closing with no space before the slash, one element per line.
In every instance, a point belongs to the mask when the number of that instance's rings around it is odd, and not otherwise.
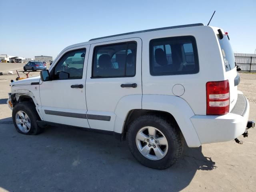
<path fill-rule="evenodd" d="M 184 27 L 203 26 L 203 25 L 204 24 L 202 24 L 202 23 L 195 23 L 195 24 L 188 24 L 188 25 L 177 25 L 177 26 L 171 26 L 171 27 L 162 27 L 162 28 L 156 28 L 156 29 L 148 29 L 148 30 L 135 31 L 135 32 L 130 32 L 130 33 L 122 33 L 122 34 L 117 34 L 117 35 L 99 37 L 99 38 L 90 39 L 89 41 L 99 40 L 99 39 L 104 39 L 104 38 L 117 37 L 117 36 L 123 36 L 123 35 L 136 34 L 136 33 L 144 33 L 144 32 L 150 32 L 150 31 L 159 31 L 159 30 L 166 30 L 166 29 L 176 29 L 176 28 L 184 28 Z"/>

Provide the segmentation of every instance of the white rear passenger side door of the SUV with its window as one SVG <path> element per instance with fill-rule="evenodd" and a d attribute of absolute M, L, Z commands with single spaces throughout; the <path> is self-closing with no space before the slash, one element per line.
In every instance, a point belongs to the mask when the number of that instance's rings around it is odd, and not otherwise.
<path fill-rule="evenodd" d="M 90 128 L 114 130 L 116 106 L 128 95 L 142 95 L 140 38 L 92 44 L 86 78 Z M 141 108 L 141 99 L 138 108 Z"/>

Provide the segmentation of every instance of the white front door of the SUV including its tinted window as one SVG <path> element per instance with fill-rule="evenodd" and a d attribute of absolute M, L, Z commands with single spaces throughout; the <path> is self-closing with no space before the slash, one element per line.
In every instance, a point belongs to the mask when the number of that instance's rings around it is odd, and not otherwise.
<path fill-rule="evenodd" d="M 44 120 L 90 128 L 86 118 L 85 81 L 90 45 L 71 48 L 50 68 L 50 81 L 40 82 Z"/>

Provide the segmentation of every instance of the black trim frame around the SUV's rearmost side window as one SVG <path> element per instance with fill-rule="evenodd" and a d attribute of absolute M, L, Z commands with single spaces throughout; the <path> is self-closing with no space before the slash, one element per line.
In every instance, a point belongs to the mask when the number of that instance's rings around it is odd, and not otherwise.
<path fill-rule="evenodd" d="M 152 50 L 154 49 L 154 46 L 152 46 L 152 42 L 154 41 L 164 41 L 166 39 L 176 39 L 176 40 L 180 40 L 181 38 L 190 38 L 192 40 L 192 46 L 193 46 L 193 53 L 194 53 L 194 60 L 195 60 L 195 64 L 196 61 L 198 63 L 197 70 L 196 72 L 191 72 L 191 71 L 184 71 L 182 74 L 175 74 L 172 73 L 170 74 L 170 72 L 165 72 L 165 73 L 161 73 L 161 74 L 156 74 L 156 73 L 152 73 L 152 57 L 154 55 L 152 55 Z M 171 36 L 171 37 L 164 37 L 164 38 L 154 38 L 151 39 L 149 41 L 149 70 L 150 70 L 150 76 L 173 76 L 173 75 L 191 75 L 191 74 L 198 74 L 200 72 L 200 64 L 199 64 L 199 57 L 198 57 L 198 49 L 197 49 L 197 44 L 196 44 L 196 38 L 192 35 L 185 35 L 185 36 Z"/>

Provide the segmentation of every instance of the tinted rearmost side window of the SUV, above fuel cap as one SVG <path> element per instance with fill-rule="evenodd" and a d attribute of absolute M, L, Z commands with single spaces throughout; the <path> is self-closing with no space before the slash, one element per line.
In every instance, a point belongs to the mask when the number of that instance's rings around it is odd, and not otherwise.
<path fill-rule="evenodd" d="M 193 36 L 150 41 L 150 74 L 178 75 L 199 72 L 196 40 Z"/>

